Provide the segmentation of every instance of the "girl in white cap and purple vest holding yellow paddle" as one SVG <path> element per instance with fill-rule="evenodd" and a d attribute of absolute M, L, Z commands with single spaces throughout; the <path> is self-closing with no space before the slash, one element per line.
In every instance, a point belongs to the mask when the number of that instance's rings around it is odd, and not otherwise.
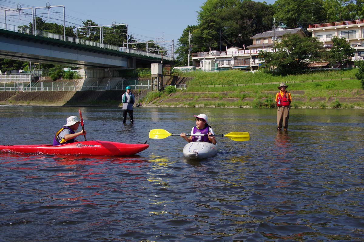
<path fill-rule="evenodd" d="M 185 139 L 187 142 L 195 142 L 195 141 L 201 141 L 201 142 L 209 142 L 216 144 L 216 139 L 214 136 L 214 131 L 212 130 L 211 126 L 207 124 L 207 116 L 206 114 L 199 114 L 199 115 L 193 115 L 196 118 L 196 126 L 192 128 L 191 134 L 198 134 L 198 135 L 205 135 L 205 136 L 197 136 L 197 135 L 191 135 L 189 138 L 187 138 L 186 133 L 181 133 L 181 137 Z"/>

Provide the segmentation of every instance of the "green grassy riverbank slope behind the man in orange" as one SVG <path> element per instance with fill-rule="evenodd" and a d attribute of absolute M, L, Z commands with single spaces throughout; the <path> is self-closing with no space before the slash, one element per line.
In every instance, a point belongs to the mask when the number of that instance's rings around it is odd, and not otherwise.
<path fill-rule="evenodd" d="M 357 69 L 314 71 L 281 77 L 261 71 L 195 71 L 183 73 L 194 77 L 186 83 L 186 90 L 173 94 L 150 93 L 145 105 L 273 108 L 278 83 L 285 82 L 295 108 L 364 108 L 364 90 L 355 78 L 356 72 Z"/>

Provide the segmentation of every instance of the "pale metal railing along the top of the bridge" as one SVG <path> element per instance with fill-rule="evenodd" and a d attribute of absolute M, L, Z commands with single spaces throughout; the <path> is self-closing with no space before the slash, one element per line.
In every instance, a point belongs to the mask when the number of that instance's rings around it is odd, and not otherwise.
<path fill-rule="evenodd" d="M 5 25 L 4 23 L 0 23 L 0 28 L 5 29 L 5 30 L 10 30 L 13 32 L 18 32 L 18 33 L 31 34 L 31 35 L 35 35 L 35 36 L 41 36 L 44 38 L 51 38 L 54 40 L 62 40 L 62 41 L 76 43 L 76 44 L 98 47 L 98 48 L 102 48 L 102 49 L 116 50 L 119 52 L 124 52 L 124 53 L 129 53 L 129 54 L 137 54 L 137 55 L 141 55 L 141 56 L 148 56 L 148 57 L 173 61 L 172 57 L 161 56 L 159 54 L 145 52 L 143 50 L 121 48 L 121 47 L 115 46 L 115 45 L 101 44 L 100 42 L 94 42 L 94 41 L 83 40 L 83 39 L 75 38 L 75 37 L 63 36 L 62 34 L 54 34 L 54 33 L 49 33 L 49 32 L 45 32 L 45 31 L 41 31 L 41 30 L 33 30 L 33 29 L 15 26 L 15 25 L 11 25 L 11 24 Z M 130 43 L 130 44 L 132 44 L 132 43 Z"/>

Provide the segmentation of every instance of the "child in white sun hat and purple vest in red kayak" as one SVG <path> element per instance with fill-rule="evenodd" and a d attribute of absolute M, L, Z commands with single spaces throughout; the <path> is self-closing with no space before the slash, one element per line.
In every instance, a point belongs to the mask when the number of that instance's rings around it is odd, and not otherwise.
<path fill-rule="evenodd" d="M 86 131 L 75 132 L 80 126 L 81 121 L 76 116 L 70 116 L 67 118 L 67 124 L 56 132 L 53 139 L 53 145 L 69 144 L 77 142 L 76 137 L 80 135 L 86 135 Z"/>

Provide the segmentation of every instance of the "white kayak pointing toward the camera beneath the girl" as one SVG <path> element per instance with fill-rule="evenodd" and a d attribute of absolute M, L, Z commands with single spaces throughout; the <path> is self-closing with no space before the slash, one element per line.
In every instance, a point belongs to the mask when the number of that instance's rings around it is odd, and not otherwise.
<path fill-rule="evenodd" d="M 183 155 L 187 159 L 201 160 L 216 155 L 219 151 L 217 144 L 207 142 L 190 142 L 183 148 Z"/>

